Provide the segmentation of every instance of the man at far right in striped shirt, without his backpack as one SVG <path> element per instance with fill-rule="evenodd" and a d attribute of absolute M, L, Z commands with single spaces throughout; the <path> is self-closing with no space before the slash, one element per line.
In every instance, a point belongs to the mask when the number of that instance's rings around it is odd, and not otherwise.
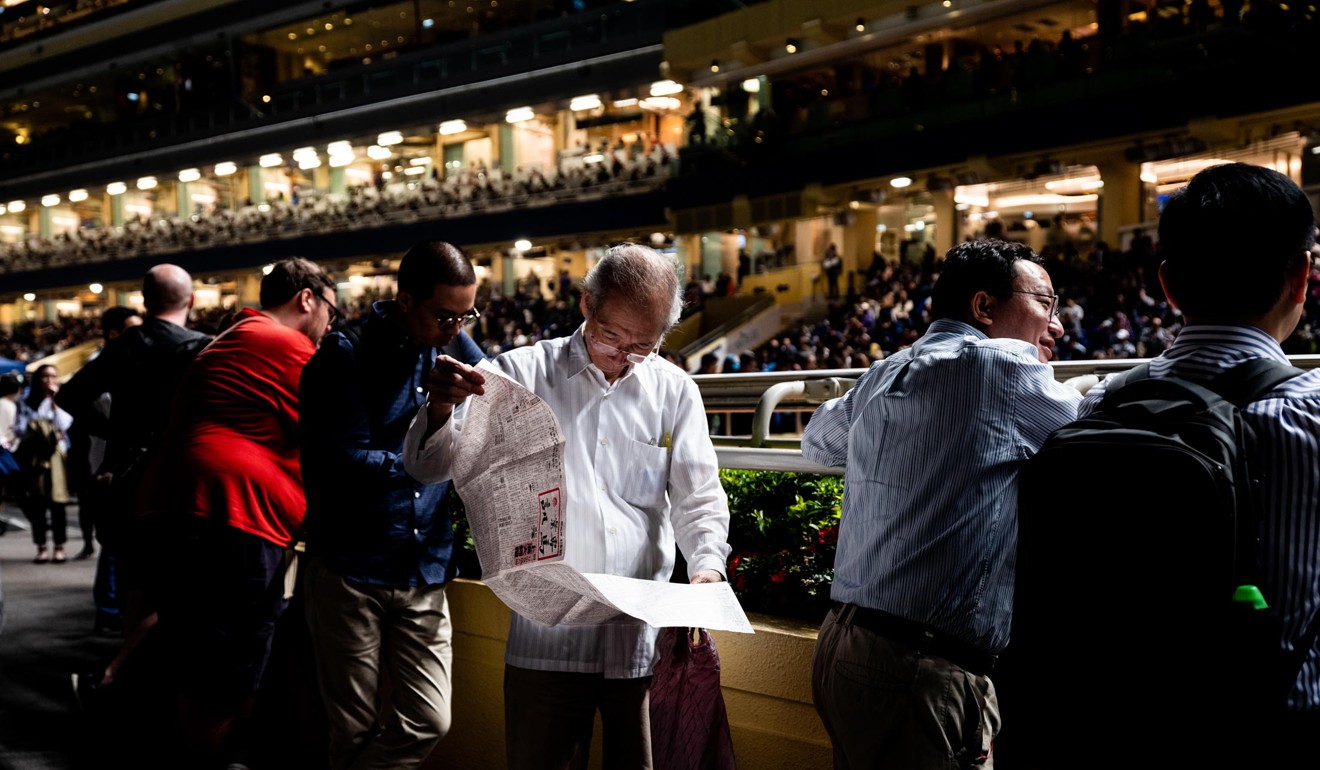
<path fill-rule="evenodd" d="M 1151 376 L 1209 382 L 1247 359 L 1287 362 L 1280 343 L 1302 318 L 1315 243 L 1311 201 L 1292 180 L 1246 164 L 1203 170 L 1164 206 L 1159 238 L 1160 284 L 1187 324 L 1173 345 L 1151 361 Z M 1081 413 L 1090 413 L 1104 394 L 1105 383 L 1092 388 Z M 1283 619 L 1282 648 L 1292 650 L 1320 612 L 1320 368 L 1279 384 L 1249 404 L 1243 417 L 1255 433 L 1253 461 L 1262 477 L 1261 590 Z M 1195 643 L 1189 637 L 1188 646 Z M 1180 663 L 1192 664 L 1191 655 Z M 1315 754 L 1320 736 L 1315 641 L 1287 711 L 1280 734 L 1255 736 L 1250 752 L 1278 752 L 1280 758 Z M 1221 741 L 1218 750 L 1224 748 Z"/>

